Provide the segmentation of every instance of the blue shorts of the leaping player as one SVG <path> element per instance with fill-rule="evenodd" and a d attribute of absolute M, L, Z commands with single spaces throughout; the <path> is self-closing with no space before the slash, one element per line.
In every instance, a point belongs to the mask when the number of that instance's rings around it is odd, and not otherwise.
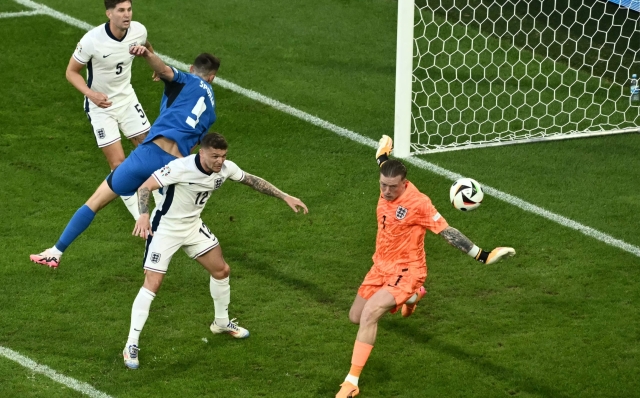
<path fill-rule="evenodd" d="M 153 142 L 138 145 L 115 170 L 107 176 L 109 188 L 120 196 L 131 196 L 154 171 L 176 159 Z"/>

